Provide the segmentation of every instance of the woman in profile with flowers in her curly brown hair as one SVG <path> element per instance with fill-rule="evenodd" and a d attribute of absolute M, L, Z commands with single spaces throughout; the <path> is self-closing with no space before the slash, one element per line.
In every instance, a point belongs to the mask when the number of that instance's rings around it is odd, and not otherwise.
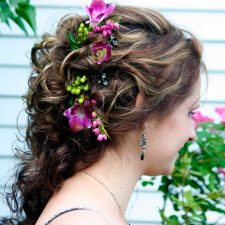
<path fill-rule="evenodd" d="M 171 174 L 195 138 L 198 40 L 150 9 L 85 9 L 32 49 L 29 150 L 8 195 L 17 222 L 5 224 L 127 224 L 140 176 Z"/>

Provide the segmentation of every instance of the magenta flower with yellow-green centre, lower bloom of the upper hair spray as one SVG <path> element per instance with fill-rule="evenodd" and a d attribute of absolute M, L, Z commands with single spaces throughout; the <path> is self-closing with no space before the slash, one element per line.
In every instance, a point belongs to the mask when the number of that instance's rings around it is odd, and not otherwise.
<path fill-rule="evenodd" d="M 111 58 L 112 46 L 102 41 L 91 45 L 93 55 L 97 58 L 97 63 L 109 61 Z"/>

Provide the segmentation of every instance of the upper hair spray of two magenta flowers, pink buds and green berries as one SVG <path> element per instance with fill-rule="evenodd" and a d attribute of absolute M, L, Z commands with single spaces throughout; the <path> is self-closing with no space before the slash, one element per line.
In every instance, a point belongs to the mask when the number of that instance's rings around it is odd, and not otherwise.
<path fill-rule="evenodd" d="M 70 31 L 68 32 L 70 48 L 76 50 L 85 44 L 88 37 L 94 33 L 101 33 L 103 40 L 90 44 L 90 50 L 97 64 L 109 61 L 111 59 L 112 47 L 118 45 L 118 40 L 113 34 L 113 30 L 120 28 L 119 23 L 117 23 L 119 19 L 117 16 L 106 20 L 114 9 L 115 4 L 106 7 L 103 0 L 93 0 L 89 7 L 85 6 L 89 20 L 85 23 L 80 23 L 76 31 L 76 37 Z"/>

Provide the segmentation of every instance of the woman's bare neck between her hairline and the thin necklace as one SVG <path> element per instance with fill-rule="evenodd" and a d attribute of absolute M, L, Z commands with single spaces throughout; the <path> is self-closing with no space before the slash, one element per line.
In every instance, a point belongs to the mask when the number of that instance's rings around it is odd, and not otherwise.
<path fill-rule="evenodd" d="M 110 190 L 122 212 L 125 212 L 134 187 L 143 174 L 140 152 L 129 148 L 122 150 L 109 148 L 105 152 L 103 158 L 86 171 Z"/>

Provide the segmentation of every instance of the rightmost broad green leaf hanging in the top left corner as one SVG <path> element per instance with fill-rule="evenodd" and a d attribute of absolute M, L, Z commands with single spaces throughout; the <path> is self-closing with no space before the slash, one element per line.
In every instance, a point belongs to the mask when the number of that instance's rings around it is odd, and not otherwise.
<path fill-rule="evenodd" d="M 29 24 L 33 32 L 36 34 L 35 8 L 31 5 L 19 3 L 15 10 L 16 13 Z"/>

